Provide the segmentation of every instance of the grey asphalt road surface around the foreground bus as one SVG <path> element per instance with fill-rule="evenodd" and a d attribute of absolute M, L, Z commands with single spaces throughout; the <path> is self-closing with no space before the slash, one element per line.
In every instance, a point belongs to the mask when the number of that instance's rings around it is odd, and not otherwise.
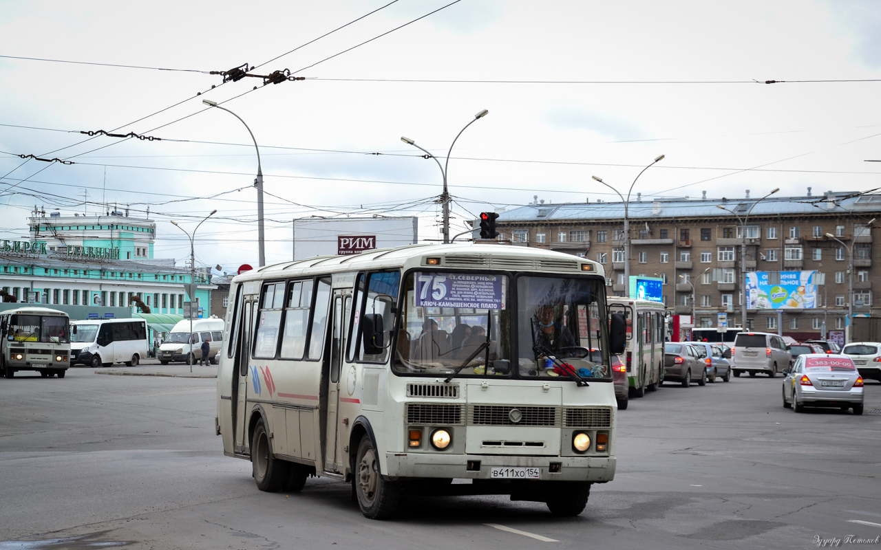
<path fill-rule="evenodd" d="M 862 416 L 784 409 L 780 378 L 663 387 L 618 413 L 617 477 L 580 517 L 505 496 L 411 497 L 383 522 L 337 481 L 259 492 L 214 436 L 214 383 L 83 368 L 0 378 L 0 550 L 755 549 L 881 535 L 878 383 Z"/>

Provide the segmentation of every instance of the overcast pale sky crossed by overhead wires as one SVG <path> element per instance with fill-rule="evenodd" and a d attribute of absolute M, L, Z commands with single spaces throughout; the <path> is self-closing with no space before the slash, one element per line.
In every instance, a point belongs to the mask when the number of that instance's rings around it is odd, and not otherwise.
<path fill-rule="evenodd" d="M 26 235 L 34 204 L 128 204 L 157 221 L 155 256 L 182 264 L 169 221 L 192 230 L 218 209 L 197 263 L 256 265 L 254 146 L 204 98 L 229 100 L 260 144 L 270 263 L 291 259 L 300 216 L 420 216 L 420 238 L 439 238 L 441 171 L 400 137 L 445 157 L 482 109 L 449 161 L 451 233 L 534 195 L 611 200 L 591 175 L 626 194 L 660 154 L 643 200 L 881 187 L 864 162 L 881 158 L 881 82 L 855 82 L 881 79 L 875 0 L 389 1 L 0 0 L 0 238 Z M 205 74 L 242 63 L 306 80 Z M 793 82 L 829 80 L 847 82 Z M 163 141 L 78 133 L 101 129 Z"/>

